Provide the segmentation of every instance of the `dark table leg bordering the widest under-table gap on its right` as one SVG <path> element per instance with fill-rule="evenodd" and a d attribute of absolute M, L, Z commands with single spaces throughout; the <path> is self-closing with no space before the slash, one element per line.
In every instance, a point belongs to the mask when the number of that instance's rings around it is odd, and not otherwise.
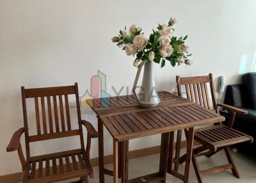
<path fill-rule="evenodd" d="M 160 150 L 160 163 L 159 173 L 164 177 L 161 182 L 166 182 L 166 171 L 168 165 L 168 145 L 169 145 L 169 132 L 161 134 L 161 150 Z"/>

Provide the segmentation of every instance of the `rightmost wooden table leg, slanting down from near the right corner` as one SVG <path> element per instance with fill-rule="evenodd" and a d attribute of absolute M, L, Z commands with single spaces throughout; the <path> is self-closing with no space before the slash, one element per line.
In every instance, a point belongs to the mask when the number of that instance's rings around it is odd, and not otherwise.
<path fill-rule="evenodd" d="M 188 144 L 187 144 L 186 165 L 185 165 L 185 173 L 184 173 L 184 183 L 188 183 L 188 179 L 189 179 L 189 171 L 190 171 L 191 159 L 193 155 L 194 135 L 195 135 L 195 128 L 190 128 L 189 131 L 186 130 L 186 138 L 187 138 Z"/>

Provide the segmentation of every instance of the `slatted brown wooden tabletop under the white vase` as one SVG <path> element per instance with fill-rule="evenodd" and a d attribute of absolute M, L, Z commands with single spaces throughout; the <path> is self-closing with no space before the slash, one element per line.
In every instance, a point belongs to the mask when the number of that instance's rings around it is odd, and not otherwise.
<path fill-rule="evenodd" d="M 93 104 L 92 109 L 116 141 L 125 141 L 225 120 L 218 113 L 172 93 L 159 92 L 159 97 L 161 103 L 153 108 L 138 106 L 132 95 L 109 97 L 107 99 L 110 101 L 109 106 L 104 102 L 106 99 L 86 100 L 86 102 Z M 121 104 L 121 102 L 123 103 Z"/>

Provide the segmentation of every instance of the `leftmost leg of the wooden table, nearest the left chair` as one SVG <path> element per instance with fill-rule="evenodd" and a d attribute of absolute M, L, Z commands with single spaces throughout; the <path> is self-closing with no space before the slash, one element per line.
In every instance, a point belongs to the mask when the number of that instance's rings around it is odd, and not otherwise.
<path fill-rule="evenodd" d="M 104 141 L 103 141 L 103 123 L 98 118 L 98 132 L 99 132 L 99 178 L 100 183 L 104 183 Z"/>

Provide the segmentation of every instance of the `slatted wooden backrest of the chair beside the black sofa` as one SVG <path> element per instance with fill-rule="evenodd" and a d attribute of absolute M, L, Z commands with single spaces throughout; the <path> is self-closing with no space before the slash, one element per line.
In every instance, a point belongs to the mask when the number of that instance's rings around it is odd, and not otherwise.
<path fill-rule="evenodd" d="M 178 94 L 180 96 L 182 96 L 181 86 L 184 85 L 186 88 L 186 96 L 188 100 L 191 100 L 207 109 L 214 109 L 216 113 L 218 113 L 212 74 L 209 74 L 209 76 L 195 77 L 177 76 L 176 81 Z M 209 88 L 211 92 L 211 100 L 209 98 Z"/>

